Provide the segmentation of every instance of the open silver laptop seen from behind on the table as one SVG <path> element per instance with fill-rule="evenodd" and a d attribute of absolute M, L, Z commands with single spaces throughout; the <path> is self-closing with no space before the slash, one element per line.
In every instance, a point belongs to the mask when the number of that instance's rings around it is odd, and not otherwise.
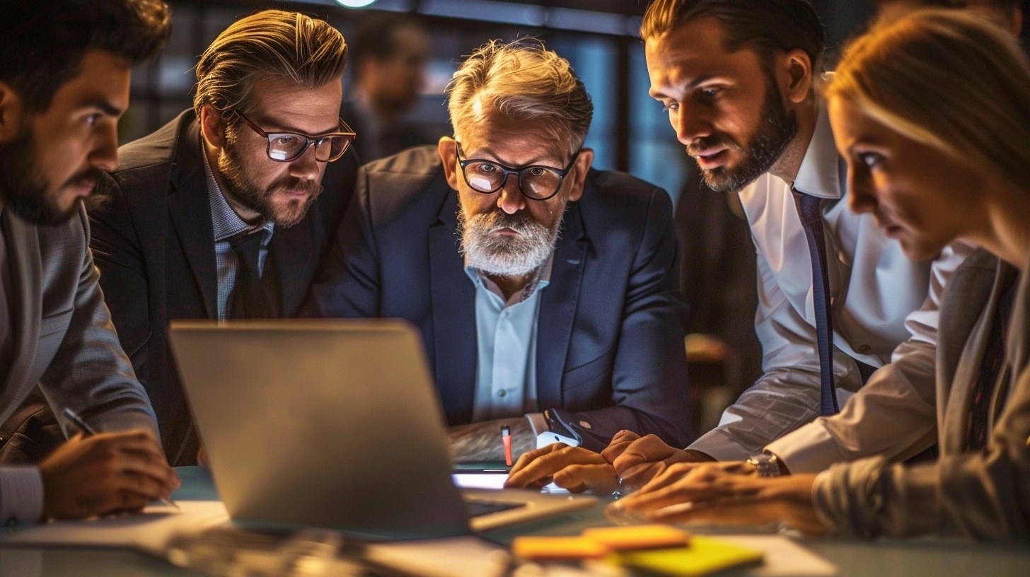
<path fill-rule="evenodd" d="M 235 521 L 440 537 L 596 502 L 456 488 L 421 339 L 403 320 L 176 320 L 171 341 Z"/>

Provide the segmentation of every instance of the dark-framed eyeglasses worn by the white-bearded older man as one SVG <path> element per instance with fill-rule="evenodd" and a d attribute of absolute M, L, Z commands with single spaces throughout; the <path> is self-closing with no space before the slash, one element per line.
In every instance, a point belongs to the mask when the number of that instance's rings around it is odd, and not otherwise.
<path fill-rule="evenodd" d="M 537 164 L 512 168 L 482 159 L 461 160 L 461 157 L 465 156 L 465 152 L 461 151 L 461 143 L 455 142 L 455 144 L 458 154 L 457 164 L 461 166 L 465 181 L 473 191 L 484 195 L 495 193 L 505 185 L 508 176 L 514 174 L 518 177 L 518 188 L 522 191 L 522 195 L 530 200 L 547 200 L 558 194 L 558 191 L 561 190 L 561 182 L 569 174 L 569 169 L 579 158 L 579 150 L 577 150 L 573 155 L 573 160 L 569 161 L 569 164 L 562 169 Z"/>

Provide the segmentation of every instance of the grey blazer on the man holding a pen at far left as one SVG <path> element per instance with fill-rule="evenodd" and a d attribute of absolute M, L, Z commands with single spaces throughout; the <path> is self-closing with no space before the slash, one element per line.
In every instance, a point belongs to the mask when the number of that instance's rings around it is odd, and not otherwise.
<path fill-rule="evenodd" d="M 11 362 L 0 373 L 0 422 L 39 385 L 65 434 L 65 407 L 94 429 L 144 428 L 153 409 L 118 344 L 97 283 L 85 209 L 65 225 L 34 226 L 4 210 L 11 267 Z"/>

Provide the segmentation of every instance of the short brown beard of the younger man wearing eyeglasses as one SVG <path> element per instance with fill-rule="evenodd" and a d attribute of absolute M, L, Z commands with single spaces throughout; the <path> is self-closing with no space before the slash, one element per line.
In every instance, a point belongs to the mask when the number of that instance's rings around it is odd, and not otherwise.
<path fill-rule="evenodd" d="M 322 186 L 318 182 L 295 177 L 288 177 L 268 189 L 262 189 L 247 177 L 236 147 L 230 142 L 222 149 L 225 154 L 219 155 L 217 164 L 218 172 L 221 173 L 228 184 L 229 190 L 225 192 L 248 210 L 261 214 L 261 217 L 266 222 L 270 220 L 276 226 L 288 229 L 304 219 L 308 209 L 321 194 Z M 305 201 L 291 200 L 285 207 L 278 208 L 273 199 L 276 192 L 283 190 L 306 191 L 308 198 Z"/>

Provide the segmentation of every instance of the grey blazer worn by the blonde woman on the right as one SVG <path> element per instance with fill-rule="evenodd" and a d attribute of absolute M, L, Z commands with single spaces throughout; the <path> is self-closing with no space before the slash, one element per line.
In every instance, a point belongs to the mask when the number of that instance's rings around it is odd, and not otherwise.
<path fill-rule="evenodd" d="M 883 457 L 821 474 L 816 509 L 843 533 L 1030 539 L 1030 275 L 1020 279 L 1005 364 L 991 404 L 991 436 L 966 452 L 972 385 L 1010 266 L 980 249 L 945 291 L 937 347 L 936 463 L 905 467 Z M 1030 269 L 1025 269 L 1030 270 Z"/>

